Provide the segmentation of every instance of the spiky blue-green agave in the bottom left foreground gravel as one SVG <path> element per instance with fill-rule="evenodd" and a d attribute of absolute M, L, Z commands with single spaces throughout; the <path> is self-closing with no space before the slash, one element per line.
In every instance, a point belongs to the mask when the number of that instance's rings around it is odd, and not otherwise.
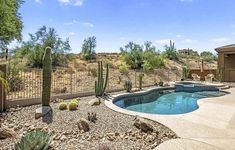
<path fill-rule="evenodd" d="M 45 131 L 32 131 L 15 144 L 16 150 L 48 150 L 51 139 Z"/>

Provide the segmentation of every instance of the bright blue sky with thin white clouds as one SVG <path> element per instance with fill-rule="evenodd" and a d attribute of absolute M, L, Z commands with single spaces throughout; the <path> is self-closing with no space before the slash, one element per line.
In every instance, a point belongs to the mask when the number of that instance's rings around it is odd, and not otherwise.
<path fill-rule="evenodd" d="M 198 51 L 235 43 L 234 0 L 25 0 L 20 9 L 23 39 L 42 25 L 69 37 L 72 52 L 97 37 L 98 52 L 117 52 L 128 41 L 151 41 L 162 50 Z"/>

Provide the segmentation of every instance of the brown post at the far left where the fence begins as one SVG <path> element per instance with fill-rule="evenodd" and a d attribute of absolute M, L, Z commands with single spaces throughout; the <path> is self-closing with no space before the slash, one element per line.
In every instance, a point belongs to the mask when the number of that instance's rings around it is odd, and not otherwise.
<path fill-rule="evenodd" d="M 6 64 L 0 65 L 0 71 L 3 72 L 3 79 L 6 79 L 6 71 L 7 66 Z M 6 109 L 6 92 L 3 88 L 2 81 L 0 82 L 0 112 L 4 111 Z"/>

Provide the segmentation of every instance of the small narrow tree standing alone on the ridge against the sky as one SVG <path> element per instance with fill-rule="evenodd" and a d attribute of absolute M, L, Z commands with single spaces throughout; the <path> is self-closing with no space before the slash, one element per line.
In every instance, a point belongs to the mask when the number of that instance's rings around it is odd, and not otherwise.
<path fill-rule="evenodd" d="M 88 37 L 82 44 L 82 56 L 85 60 L 95 59 L 96 37 Z"/>

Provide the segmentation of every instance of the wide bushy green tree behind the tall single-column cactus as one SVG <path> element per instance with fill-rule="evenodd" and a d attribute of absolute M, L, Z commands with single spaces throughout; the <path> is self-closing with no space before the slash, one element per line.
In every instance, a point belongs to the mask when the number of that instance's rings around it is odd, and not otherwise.
<path fill-rule="evenodd" d="M 36 33 L 29 34 L 30 40 L 23 42 L 16 53 L 28 58 L 28 65 L 42 68 L 43 55 L 46 47 L 52 49 L 52 66 L 64 66 L 68 63 L 67 54 L 71 50 L 69 39 L 63 41 L 54 28 L 41 27 Z"/>

